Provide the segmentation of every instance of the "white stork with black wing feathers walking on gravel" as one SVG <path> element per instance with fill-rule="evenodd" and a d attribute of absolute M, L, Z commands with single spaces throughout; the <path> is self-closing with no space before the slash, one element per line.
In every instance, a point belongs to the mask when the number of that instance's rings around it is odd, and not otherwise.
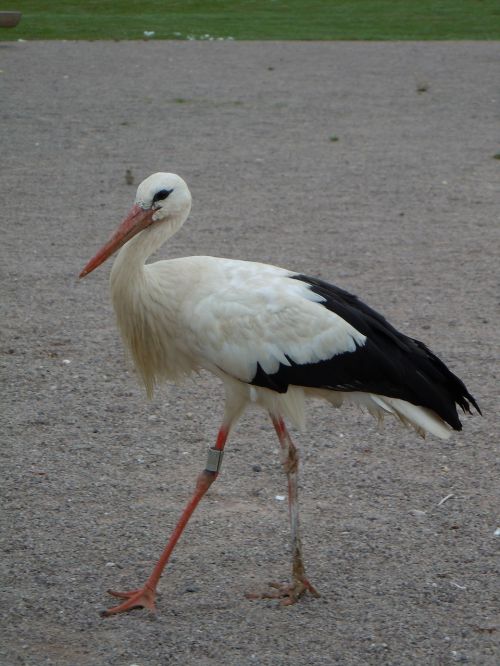
<path fill-rule="evenodd" d="M 207 370 L 222 381 L 224 413 L 205 468 L 161 557 L 137 589 L 104 616 L 155 610 L 162 572 L 193 511 L 221 469 L 224 446 L 245 408 L 269 415 L 288 482 L 292 577 L 250 599 L 284 605 L 319 596 L 304 564 L 299 526 L 299 456 L 286 423 L 303 428 L 306 400 L 355 404 L 376 419 L 395 416 L 422 436 L 461 430 L 457 407 L 481 414 L 464 383 L 430 349 L 393 327 L 357 296 L 319 278 L 252 261 L 210 256 L 146 263 L 187 220 L 192 197 L 173 173 L 154 173 L 80 278 L 115 252 L 110 274 L 118 328 L 146 393 Z"/>

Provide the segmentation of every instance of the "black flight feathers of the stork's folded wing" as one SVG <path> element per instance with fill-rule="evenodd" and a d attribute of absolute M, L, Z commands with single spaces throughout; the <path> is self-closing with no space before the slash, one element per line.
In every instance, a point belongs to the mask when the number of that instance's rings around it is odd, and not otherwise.
<path fill-rule="evenodd" d="M 342 317 L 366 336 L 354 352 L 337 354 L 317 363 L 281 364 L 272 375 L 260 365 L 252 384 L 284 393 L 290 384 L 337 391 L 363 391 L 407 400 L 435 411 L 455 430 L 462 424 L 456 404 L 470 412 L 474 398 L 463 382 L 423 342 L 400 333 L 357 296 L 317 278 L 294 275 L 325 300 L 321 305 Z M 287 357 L 288 358 L 288 357 Z"/>

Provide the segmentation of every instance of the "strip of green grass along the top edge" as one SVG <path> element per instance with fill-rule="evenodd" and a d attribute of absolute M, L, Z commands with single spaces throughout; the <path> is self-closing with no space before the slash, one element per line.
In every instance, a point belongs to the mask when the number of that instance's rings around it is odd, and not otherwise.
<path fill-rule="evenodd" d="M 500 39 L 500 0 L 10 0 L 9 39 Z"/>

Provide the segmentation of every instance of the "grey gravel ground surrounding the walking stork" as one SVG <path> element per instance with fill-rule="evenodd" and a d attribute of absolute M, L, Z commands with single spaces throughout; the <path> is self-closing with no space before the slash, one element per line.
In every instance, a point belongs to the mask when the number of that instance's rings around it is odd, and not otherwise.
<path fill-rule="evenodd" d="M 498 664 L 498 44 L 0 43 L 0 69 L 1 663 Z M 333 281 L 483 408 L 441 442 L 311 405 L 295 439 L 318 600 L 243 596 L 289 571 L 277 442 L 249 413 L 158 613 L 99 616 L 149 573 L 222 412 L 208 375 L 148 402 L 111 264 L 76 278 L 127 180 L 158 170 L 194 197 L 164 256 Z"/>

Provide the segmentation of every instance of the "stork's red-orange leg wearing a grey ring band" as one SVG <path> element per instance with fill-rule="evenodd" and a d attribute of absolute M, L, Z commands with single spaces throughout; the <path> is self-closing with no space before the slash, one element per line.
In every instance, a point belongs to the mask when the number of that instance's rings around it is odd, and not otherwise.
<path fill-rule="evenodd" d="M 102 615 L 104 617 L 107 617 L 108 615 L 114 615 L 115 613 L 123 613 L 125 611 L 132 610 L 133 608 L 149 608 L 150 610 L 155 610 L 156 586 L 158 585 L 160 576 L 177 544 L 177 541 L 179 540 L 179 537 L 181 536 L 184 528 L 191 518 L 193 511 L 196 509 L 201 498 L 207 492 L 219 474 L 222 451 L 224 450 L 224 445 L 226 443 L 228 434 L 229 426 L 222 426 L 219 430 L 217 442 L 214 448 L 210 449 L 207 469 L 203 470 L 203 472 L 198 476 L 195 491 L 187 503 L 186 508 L 182 512 L 182 515 L 179 518 L 179 521 L 175 526 L 175 529 L 172 532 L 167 545 L 165 546 L 165 550 L 161 554 L 160 559 L 156 563 L 144 586 L 138 590 L 132 590 L 130 592 L 114 592 L 112 590 L 108 590 L 109 594 L 111 594 L 113 597 L 125 599 L 125 601 L 118 606 L 114 606 L 113 608 L 109 608 L 108 610 L 103 611 Z"/>

